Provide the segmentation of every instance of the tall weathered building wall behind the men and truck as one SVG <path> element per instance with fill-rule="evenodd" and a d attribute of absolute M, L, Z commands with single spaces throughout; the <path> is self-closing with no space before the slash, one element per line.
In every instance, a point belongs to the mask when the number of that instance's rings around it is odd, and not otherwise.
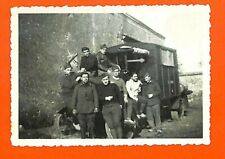
<path fill-rule="evenodd" d="M 19 15 L 20 124 L 35 128 L 52 123 L 63 107 L 59 76 L 68 55 L 77 53 L 79 62 L 83 46 L 97 52 L 100 44 L 122 43 L 123 33 L 145 42 L 164 41 L 124 14 Z"/>

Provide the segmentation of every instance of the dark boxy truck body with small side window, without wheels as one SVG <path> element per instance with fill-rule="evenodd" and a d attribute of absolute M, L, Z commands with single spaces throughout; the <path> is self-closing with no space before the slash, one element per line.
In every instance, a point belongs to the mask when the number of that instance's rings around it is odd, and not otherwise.
<path fill-rule="evenodd" d="M 176 98 L 179 92 L 179 76 L 176 50 L 152 43 L 134 42 L 107 49 L 107 56 L 122 70 L 124 80 L 129 74 L 138 73 L 141 80 L 149 73 L 161 88 L 161 99 Z"/>

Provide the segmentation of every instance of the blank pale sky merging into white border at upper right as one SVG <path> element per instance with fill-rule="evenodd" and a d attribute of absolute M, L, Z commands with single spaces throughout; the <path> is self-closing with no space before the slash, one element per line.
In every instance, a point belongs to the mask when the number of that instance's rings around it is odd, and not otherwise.
<path fill-rule="evenodd" d="M 182 72 L 202 72 L 210 46 L 208 6 L 150 6 L 127 13 L 166 38 L 165 46 L 177 50 Z"/>

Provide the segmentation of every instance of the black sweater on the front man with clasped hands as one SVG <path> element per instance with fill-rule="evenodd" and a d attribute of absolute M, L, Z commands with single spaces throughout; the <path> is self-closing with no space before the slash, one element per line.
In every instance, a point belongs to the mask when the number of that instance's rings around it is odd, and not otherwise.
<path fill-rule="evenodd" d="M 119 88 L 115 83 L 109 83 L 108 85 L 104 85 L 102 83 L 102 84 L 99 84 L 97 88 L 98 88 L 99 100 L 103 106 L 110 103 L 119 103 L 119 104 L 123 103 L 123 99 L 120 95 L 121 92 L 119 91 Z M 113 96 L 111 101 L 105 100 L 105 97 L 108 97 L 108 96 Z"/>

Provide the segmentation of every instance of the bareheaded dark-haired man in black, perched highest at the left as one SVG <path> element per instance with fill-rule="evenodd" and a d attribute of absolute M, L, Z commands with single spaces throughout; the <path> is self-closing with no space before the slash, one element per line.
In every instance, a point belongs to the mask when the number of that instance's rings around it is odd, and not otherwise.
<path fill-rule="evenodd" d="M 90 77 L 98 76 L 98 60 L 96 56 L 90 53 L 88 47 L 83 47 L 82 52 L 84 56 L 81 57 L 80 72 L 87 71 L 90 73 Z"/>

